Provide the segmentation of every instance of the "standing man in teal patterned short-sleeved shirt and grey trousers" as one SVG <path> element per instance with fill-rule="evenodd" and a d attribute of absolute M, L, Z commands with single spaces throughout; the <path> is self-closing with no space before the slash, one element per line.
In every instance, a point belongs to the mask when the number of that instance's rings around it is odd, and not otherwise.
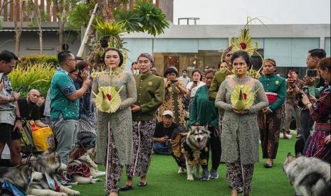
<path fill-rule="evenodd" d="M 61 162 L 68 165 L 68 159 L 75 146 L 78 132 L 79 98 L 90 87 L 85 80 L 80 89 L 75 89 L 69 73 L 75 70 L 75 56 L 70 51 L 58 53 L 59 67 L 53 75 L 50 87 L 51 123 L 58 146 L 56 152 Z"/>

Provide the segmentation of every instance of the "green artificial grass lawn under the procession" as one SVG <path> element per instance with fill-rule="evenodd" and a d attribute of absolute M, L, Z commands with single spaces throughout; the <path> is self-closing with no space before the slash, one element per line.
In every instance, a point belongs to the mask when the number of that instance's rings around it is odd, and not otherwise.
<path fill-rule="evenodd" d="M 280 138 L 278 155 L 274 160 L 273 168 L 264 168 L 266 160 L 261 158 L 256 163 L 253 174 L 251 195 L 294 195 L 295 191 L 290 186 L 289 180 L 283 172 L 283 161 L 288 152 L 294 154 L 295 135 L 293 139 Z M 260 148 L 261 149 L 261 148 Z M 261 155 L 261 150 L 260 150 Z M 211 164 L 209 164 L 209 169 Z M 100 166 L 100 170 L 104 170 Z M 206 182 L 194 179 L 186 180 L 186 173 L 178 174 L 178 167 L 172 156 L 152 155 L 152 163 L 147 174 L 147 187 L 137 187 L 139 178 L 134 179 L 134 189 L 120 192 L 120 195 L 231 195 L 226 180 L 226 165 L 219 167 L 219 179 Z M 201 172 L 201 170 L 200 170 Z M 125 169 L 123 169 L 120 187 L 125 184 Z M 105 180 L 103 178 L 103 180 Z M 76 185 L 74 190 L 79 190 L 80 195 L 105 195 L 103 185 L 105 181 L 93 185 Z"/>

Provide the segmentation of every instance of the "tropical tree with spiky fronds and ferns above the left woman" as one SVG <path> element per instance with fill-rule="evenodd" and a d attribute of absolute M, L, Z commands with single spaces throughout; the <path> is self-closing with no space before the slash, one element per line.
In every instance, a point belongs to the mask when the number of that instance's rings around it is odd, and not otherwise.
<path fill-rule="evenodd" d="M 122 33 L 147 31 L 147 33 L 156 36 L 164 33 L 164 28 L 169 26 L 161 9 L 158 9 L 154 4 L 150 4 L 149 1 L 137 1 L 132 11 L 123 9 L 123 5 L 127 2 L 127 0 L 96 0 L 90 1 L 89 5 L 75 8 L 84 12 L 88 9 L 91 13 L 95 4 L 98 4 L 98 14 L 93 23 L 93 28 L 88 33 L 89 38 L 95 38 L 95 43 L 92 44 L 88 56 L 88 60 L 92 65 L 102 64 L 100 63 L 100 55 L 107 47 L 119 48 L 125 52 L 123 40 L 120 38 Z M 89 17 L 82 19 L 80 12 L 74 10 L 71 13 L 68 18 L 69 23 L 78 21 L 76 18 L 80 18 L 81 23 L 79 24 L 81 26 L 87 25 Z M 85 16 L 90 15 L 86 14 Z M 76 30 L 80 30 L 78 26 L 76 26 Z"/>

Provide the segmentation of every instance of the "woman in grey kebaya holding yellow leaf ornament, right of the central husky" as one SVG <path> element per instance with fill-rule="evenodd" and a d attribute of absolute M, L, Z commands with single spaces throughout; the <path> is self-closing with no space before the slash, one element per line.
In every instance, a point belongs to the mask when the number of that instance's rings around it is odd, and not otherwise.
<path fill-rule="evenodd" d="M 237 190 L 243 187 L 243 195 L 251 192 L 254 163 L 258 162 L 258 121 L 256 112 L 268 106 L 268 99 L 261 82 L 247 75 L 251 66 L 250 58 L 245 51 L 237 51 L 231 56 L 231 64 L 236 75 L 222 82 L 217 93 L 215 105 L 224 109 L 221 131 L 221 160 L 228 168 L 228 180 L 232 188 L 231 195 L 237 195 Z M 231 99 L 236 89 L 251 89 L 237 99 Z M 253 93 L 254 92 L 254 93 Z M 248 94 L 251 94 L 248 97 Z M 251 107 L 243 104 L 238 109 L 238 101 L 246 103 L 256 99 Z M 236 103 L 233 103 L 236 101 Z"/>

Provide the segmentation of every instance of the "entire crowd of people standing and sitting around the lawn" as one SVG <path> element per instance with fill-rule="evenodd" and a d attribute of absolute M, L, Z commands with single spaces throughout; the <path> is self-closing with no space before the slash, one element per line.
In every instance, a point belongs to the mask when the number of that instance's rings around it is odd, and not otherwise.
<path fill-rule="evenodd" d="M 58 67 L 51 80 L 46 99 L 38 89 L 26 98 L 11 87 L 9 73 L 19 60 L 14 53 L 0 53 L 0 154 L 5 144 L 11 152 L 11 163 L 21 163 L 20 137 L 22 119 L 38 127 L 49 126 L 56 136 L 56 151 L 61 162 L 96 148 L 96 162 L 105 165 L 105 189 L 108 195 L 131 190 L 133 178 L 140 177 L 138 187 L 147 186 L 147 172 L 152 153 L 172 153 L 171 136 L 186 125 L 206 126 L 210 131 L 209 164 L 202 165 L 201 180 L 219 178 L 221 162 L 228 168 L 231 195 L 251 192 L 254 163 L 259 161 L 261 143 L 265 168 L 273 167 L 280 132 L 290 136 L 290 121 L 295 111 L 298 141 L 295 152 L 317 157 L 330 163 L 330 57 L 325 50 L 308 51 L 307 66 L 316 75 L 298 78 L 298 70 L 280 77 L 277 62 L 263 62 L 261 77 L 248 75 L 251 59 L 245 51 L 226 48 L 219 70 L 208 68 L 182 75 L 168 67 L 163 77 L 154 67 L 148 53 L 137 57 L 132 72 L 121 68 L 120 50 L 108 48 L 102 55 L 105 70 L 111 74 L 91 78 L 91 66 L 75 58 L 70 51 L 58 53 Z M 234 74 L 229 70 L 235 70 Z M 192 79 L 192 80 L 191 80 Z M 253 106 L 237 109 L 231 94 L 237 85 L 251 87 Z M 112 113 L 95 108 L 95 94 L 100 87 L 120 90 L 120 107 Z M 294 148 L 294 146 L 293 146 Z M 209 153 L 208 153 L 209 155 Z M 208 160 L 208 159 L 207 159 Z M 120 187 L 125 168 L 127 180 Z M 70 183 L 60 173 L 63 184 Z"/>

